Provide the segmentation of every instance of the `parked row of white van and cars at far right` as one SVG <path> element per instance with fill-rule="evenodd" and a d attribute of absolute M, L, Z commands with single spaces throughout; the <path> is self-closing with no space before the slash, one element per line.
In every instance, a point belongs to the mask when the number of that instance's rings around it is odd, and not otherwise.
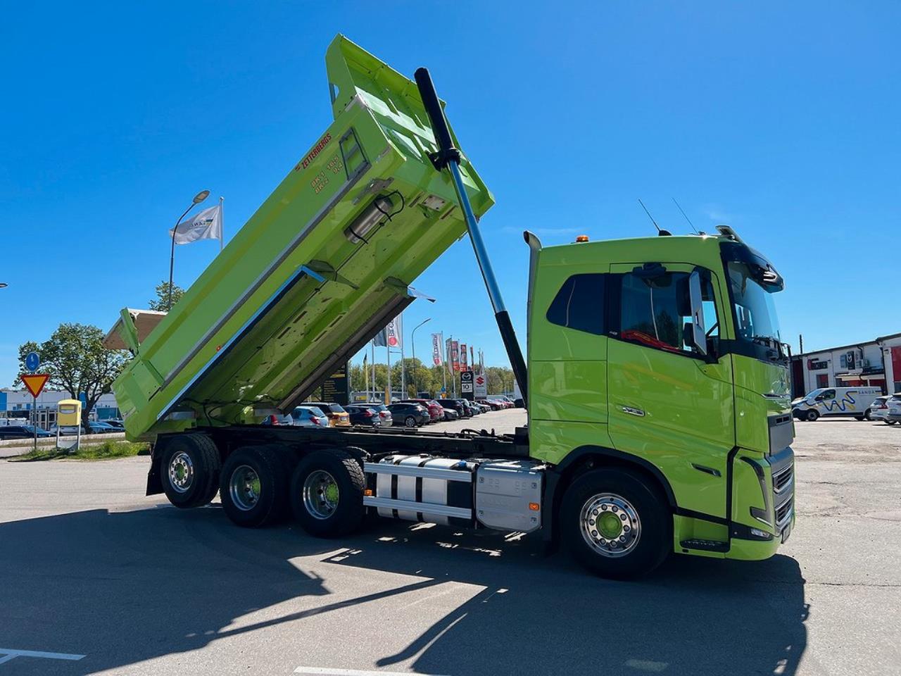
<path fill-rule="evenodd" d="M 880 394 L 879 388 L 818 388 L 792 402 L 792 415 L 813 422 L 821 417 L 853 417 L 901 422 L 901 392 Z"/>

